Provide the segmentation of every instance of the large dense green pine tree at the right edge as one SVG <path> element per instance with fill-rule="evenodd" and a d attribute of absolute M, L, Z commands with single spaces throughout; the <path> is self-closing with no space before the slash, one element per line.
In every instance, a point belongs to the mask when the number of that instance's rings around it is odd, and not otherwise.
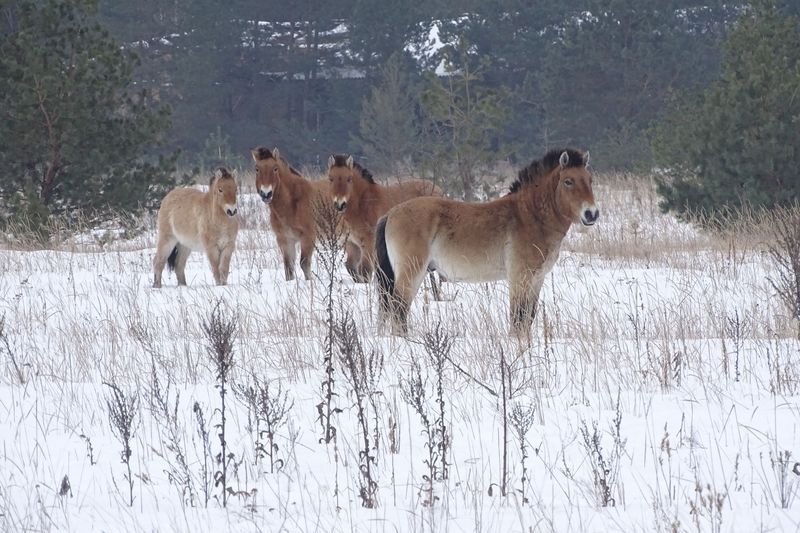
<path fill-rule="evenodd" d="M 722 75 L 656 130 L 662 208 L 713 213 L 800 196 L 800 20 L 756 0 L 727 42 Z"/>

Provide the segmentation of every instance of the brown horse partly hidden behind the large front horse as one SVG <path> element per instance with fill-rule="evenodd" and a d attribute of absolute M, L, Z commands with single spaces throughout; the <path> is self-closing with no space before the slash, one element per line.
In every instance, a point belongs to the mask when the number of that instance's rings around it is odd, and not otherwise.
<path fill-rule="evenodd" d="M 342 213 L 348 235 L 347 271 L 356 282 L 368 282 L 375 270 L 375 228 L 378 219 L 395 205 L 420 196 L 441 196 L 442 189 L 427 180 L 380 185 L 353 156 L 328 159 L 330 195 Z"/>

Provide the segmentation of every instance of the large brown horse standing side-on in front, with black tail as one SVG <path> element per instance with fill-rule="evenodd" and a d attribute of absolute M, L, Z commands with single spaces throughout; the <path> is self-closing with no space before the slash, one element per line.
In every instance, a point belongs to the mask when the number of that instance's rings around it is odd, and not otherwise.
<path fill-rule="evenodd" d="M 509 194 L 486 203 L 417 198 L 391 209 L 377 229 L 384 316 L 407 332 L 408 311 L 428 267 L 449 280 L 507 279 L 512 331 L 527 337 L 539 291 L 571 224 L 597 222 L 589 153 L 552 150 L 522 169 Z"/>

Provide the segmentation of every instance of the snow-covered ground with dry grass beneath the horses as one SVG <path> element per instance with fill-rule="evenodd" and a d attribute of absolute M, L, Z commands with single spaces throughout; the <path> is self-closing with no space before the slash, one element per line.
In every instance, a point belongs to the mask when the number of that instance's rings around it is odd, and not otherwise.
<path fill-rule="evenodd" d="M 568 236 L 529 347 L 506 335 L 504 283 L 444 284 L 441 302 L 426 287 L 401 339 L 381 326 L 374 287 L 336 272 L 337 316 L 351 310 L 364 352 L 383 357 L 363 402 L 377 485 L 365 480 L 338 350 L 341 411 L 335 441 L 322 440 L 329 279 L 315 261 L 319 279 L 284 281 L 254 196 L 242 198 L 226 287 L 213 286 L 196 253 L 188 287 L 170 274 L 152 289 L 152 229 L 102 246 L 83 236 L 0 252 L 0 530 L 800 530 L 800 342 L 768 257 L 753 239 L 712 238 L 659 214 L 647 186 L 597 183 L 600 223 Z M 202 327 L 217 305 L 238 327 L 227 508 L 213 481 L 221 398 Z M 423 343 L 439 323 L 452 337 L 443 417 Z M 403 393 L 415 365 L 433 454 Z M 272 469 L 242 396 L 254 379 L 270 383 L 278 407 L 280 387 L 288 408 Z M 107 384 L 136 401 L 133 505 Z M 518 421 L 533 417 L 522 440 L 515 407 Z M 362 506 L 362 486 L 374 508 Z"/>

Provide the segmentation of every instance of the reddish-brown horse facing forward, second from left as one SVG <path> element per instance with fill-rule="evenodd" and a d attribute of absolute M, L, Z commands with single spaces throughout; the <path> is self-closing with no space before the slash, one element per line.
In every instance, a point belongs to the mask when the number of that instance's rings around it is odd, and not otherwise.
<path fill-rule="evenodd" d="M 316 202 L 327 201 L 328 182 L 308 181 L 281 157 L 277 148 L 259 146 L 250 151 L 256 162 L 256 190 L 269 206 L 269 222 L 283 254 L 286 281 L 294 279 L 297 244 L 300 268 L 311 279 L 311 257 L 317 240 Z"/>

